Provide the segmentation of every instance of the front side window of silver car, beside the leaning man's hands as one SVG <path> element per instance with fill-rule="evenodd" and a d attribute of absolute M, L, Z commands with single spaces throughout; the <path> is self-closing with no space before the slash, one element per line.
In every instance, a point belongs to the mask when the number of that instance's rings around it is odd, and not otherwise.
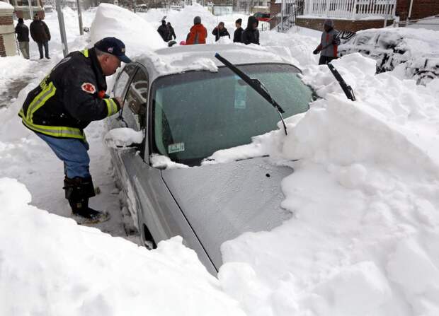
<path fill-rule="evenodd" d="M 139 69 L 125 96 L 122 117 L 128 127 L 140 131 L 146 125 L 149 81 L 146 72 Z"/>

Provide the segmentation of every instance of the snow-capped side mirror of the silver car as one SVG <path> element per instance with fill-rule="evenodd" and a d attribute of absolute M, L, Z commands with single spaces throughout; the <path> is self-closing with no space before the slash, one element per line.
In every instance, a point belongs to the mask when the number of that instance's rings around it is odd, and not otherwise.
<path fill-rule="evenodd" d="M 108 148 L 126 149 L 140 146 L 143 139 L 143 131 L 135 131 L 129 127 L 120 127 L 108 131 L 103 141 Z"/>

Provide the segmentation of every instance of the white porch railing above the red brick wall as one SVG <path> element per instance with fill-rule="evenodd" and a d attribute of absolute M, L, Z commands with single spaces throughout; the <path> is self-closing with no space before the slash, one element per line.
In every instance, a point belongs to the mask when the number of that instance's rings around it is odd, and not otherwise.
<path fill-rule="evenodd" d="M 305 16 L 328 18 L 393 17 L 397 0 L 304 0 Z"/>

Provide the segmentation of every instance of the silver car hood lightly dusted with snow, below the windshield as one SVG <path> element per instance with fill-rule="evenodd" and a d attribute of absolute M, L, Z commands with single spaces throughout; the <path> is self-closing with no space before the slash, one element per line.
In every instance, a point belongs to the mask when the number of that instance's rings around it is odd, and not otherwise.
<path fill-rule="evenodd" d="M 161 176 L 219 269 L 223 242 L 247 231 L 271 230 L 292 216 L 280 207 L 280 182 L 292 171 L 262 157 L 167 169 Z"/>

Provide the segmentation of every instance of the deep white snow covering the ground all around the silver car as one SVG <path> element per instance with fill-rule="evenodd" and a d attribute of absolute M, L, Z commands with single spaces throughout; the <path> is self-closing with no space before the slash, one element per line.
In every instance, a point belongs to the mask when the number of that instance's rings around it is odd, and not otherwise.
<path fill-rule="evenodd" d="M 95 14 L 84 13 L 84 25 Z M 133 16 L 104 5 L 83 37 L 75 35 L 74 13 L 65 15 L 70 50 L 112 32 L 129 55 L 164 45 L 155 33 L 161 11 Z M 178 41 L 195 15 L 209 32 L 224 21 L 232 33 L 236 19 L 200 6 L 166 15 Z M 0 89 L 31 82 L 17 100 L 0 103 L 0 315 L 439 315 L 439 79 L 416 86 L 392 72 L 375 76 L 374 60 L 350 54 L 333 63 L 353 87 L 354 103 L 326 66 L 316 66 L 317 33 L 262 33 L 261 49 L 301 66 L 321 98 L 287 119 L 288 136 L 280 129 L 215 153 L 225 163 L 250 148 L 295 169 L 282 182 L 292 218 L 225 242 L 216 279 L 181 238 L 147 251 L 61 217 L 69 216 L 62 164 L 16 116 L 25 94 L 62 58 L 55 13 L 46 22 L 54 33 L 51 62 L 0 59 L 8 69 Z M 113 214 L 98 228 L 126 238 L 104 130 L 103 122 L 86 129 L 102 189 L 92 206 Z"/>

